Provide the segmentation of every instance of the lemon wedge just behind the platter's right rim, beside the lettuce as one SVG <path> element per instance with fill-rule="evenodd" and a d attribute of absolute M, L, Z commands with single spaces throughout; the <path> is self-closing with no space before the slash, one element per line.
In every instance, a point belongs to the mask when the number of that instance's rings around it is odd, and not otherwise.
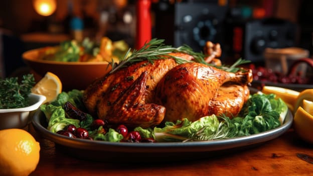
<path fill-rule="evenodd" d="M 297 101 L 297 98 L 299 96 L 299 92 L 293 91 L 290 89 L 285 89 L 283 87 L 275 87 L 275 86 L 263 86 L 262 89 L 263 94 L 275 94 L 277 98 L 280 98 L 282 101 L 284 101 L 288 108 L 291 111 L 294 111 L 294 103 Z"/>

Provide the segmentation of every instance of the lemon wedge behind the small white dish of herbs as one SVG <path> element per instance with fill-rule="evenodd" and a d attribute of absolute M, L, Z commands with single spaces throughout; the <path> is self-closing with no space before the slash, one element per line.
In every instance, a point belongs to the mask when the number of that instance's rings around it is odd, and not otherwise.
<path fill-rule="evenodd" d="M 47 72 L 32 88 L 32 93 L 46 96 L 46 102 L 51 102 L 62 92 L 60 78 L 52 72 Z"/>

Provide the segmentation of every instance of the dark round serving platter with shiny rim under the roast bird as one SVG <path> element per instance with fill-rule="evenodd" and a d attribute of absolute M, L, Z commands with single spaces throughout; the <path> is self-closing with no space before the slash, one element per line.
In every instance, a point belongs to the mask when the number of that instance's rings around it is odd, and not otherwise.
<path fill-rule="evenodd" d="M 127 143 L 69 138 L 47 130 L 46 117 L 40 110 L 37 110 L 34 114 L 32 124 L 42 137 L 55 142 L 58 151 L 80 159 L 120 161 L 120 158 L 122 157 L 126 158 L 127 161 L 154 162 L 207 158 L 259 146 L 260 144 L 277 138 L 286 132 L 291 127 L 292 121 L 293 116 L 289 111 L 284 123 L 280 127 L 266 132 L 223 140 L 185 143 Z"/>

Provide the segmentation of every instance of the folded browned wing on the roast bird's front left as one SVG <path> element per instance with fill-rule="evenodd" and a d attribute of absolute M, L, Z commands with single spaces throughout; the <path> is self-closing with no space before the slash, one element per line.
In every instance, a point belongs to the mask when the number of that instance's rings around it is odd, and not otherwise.
<path fill-rule="evenodd" d="M 109 120 L 112 124 L 122 122 L 126 126 L 141 126 L 142 128 L 160 124 L 165 116 L 165 107 L 145 102 L 147 78 L 147 71 L 142 72 L 102 118 Z M 100 114 L 101 112 L 99 111 Z"/>

